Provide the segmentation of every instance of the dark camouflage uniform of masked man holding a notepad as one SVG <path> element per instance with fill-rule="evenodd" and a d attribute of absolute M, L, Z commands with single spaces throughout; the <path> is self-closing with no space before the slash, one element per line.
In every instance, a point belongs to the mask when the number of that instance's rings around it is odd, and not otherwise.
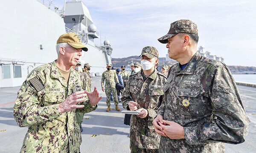
<path fill-rule="evenodd" d="M 158 152 L 160 135 L 154 131 L 152 121 L 157 116 L 158 103 L 163 100 L 162 88 L 166 77 L 155 69 L 144 81 L 142 73 L 141 70 L 130 75 L 122 95 L 123 108 L 129 110 L 129 101 L 134 101 L 138 103 L 139 108 L 148 110 L 148 116 L 144 119 L 136 115 L 131 116 L 130 149 L 134 153 L 140 153 L 142 148 L 150 149 L 147 152 Z"/>

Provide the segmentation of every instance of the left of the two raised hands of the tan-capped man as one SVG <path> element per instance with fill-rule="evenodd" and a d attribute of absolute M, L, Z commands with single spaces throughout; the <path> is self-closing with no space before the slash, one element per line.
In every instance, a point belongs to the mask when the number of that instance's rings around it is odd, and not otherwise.
<path fill-rule="evenodd" d="M 65 113 L 68 111 L 71 111 L 75 108 L 83 108 L 84 105 L 76 105 L 78 102 L 82 102 L 86 100 L 85 98 L 86 94 L 84 91 L 77 91 L 67 97 L 63 102 L 59 105 L 59 113 Z M 81 98 L 84 97 L 84 98 Z"/>

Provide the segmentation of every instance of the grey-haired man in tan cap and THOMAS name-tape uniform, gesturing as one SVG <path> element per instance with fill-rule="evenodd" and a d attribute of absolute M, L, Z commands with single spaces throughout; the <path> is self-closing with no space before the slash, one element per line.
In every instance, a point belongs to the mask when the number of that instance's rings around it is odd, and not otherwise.
<path fill-rule="evenodd" d="M 23 82 L 13 108 L 17 124 L 28 127 L 20 153 L 80 152 L 76 111 L 94 111 L 102 98 L 96 88 L 84 91 L 80 75 L 71 68 L 87 50 L 77 34 L 63 34 L 56 45 L 58 59 L 38 66 Z"/>

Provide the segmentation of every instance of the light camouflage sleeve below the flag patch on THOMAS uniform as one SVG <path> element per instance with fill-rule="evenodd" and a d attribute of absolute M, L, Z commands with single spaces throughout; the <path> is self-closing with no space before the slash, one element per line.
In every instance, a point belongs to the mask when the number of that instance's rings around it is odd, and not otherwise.
<path fill-rule="evenodd" d="M 58 105 L 40 106 L 38 99 L 44 94 L 36 92 L 26 80 L 17 93 L 17 99 L 13 108 L 14 119 L 20 127 L 38 124 L 55 119 L 59 116 Z"/>

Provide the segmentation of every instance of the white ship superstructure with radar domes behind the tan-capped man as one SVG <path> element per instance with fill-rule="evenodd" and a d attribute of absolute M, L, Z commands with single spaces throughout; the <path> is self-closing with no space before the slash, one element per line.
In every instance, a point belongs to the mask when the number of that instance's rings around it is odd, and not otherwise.
<path fill-rule="evenodd" d="M 1 24 L 0 88 L 20 86 L 35 67 L 57 59 L 56 41 L 66 32 L 77 33 L 87 46 L 80 61 L 91 65 L 92 77 L 111 63 L 110 42 L 95 45 L 100 37 L 82 1 L 67 0 L 59 9 L 52 0 L 6 0 L 0 12 L 8 21 Z"/>

